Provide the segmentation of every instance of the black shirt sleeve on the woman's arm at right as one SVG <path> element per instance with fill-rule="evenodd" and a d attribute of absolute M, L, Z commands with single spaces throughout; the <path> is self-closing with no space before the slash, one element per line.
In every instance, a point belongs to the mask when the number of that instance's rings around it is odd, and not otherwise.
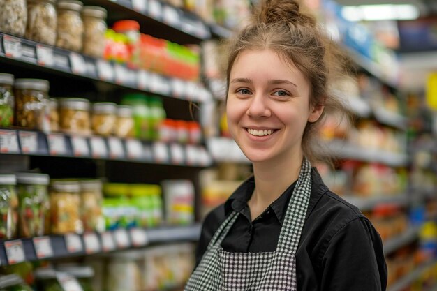
<path fill-rule="evenodd" d="M 385 291 L 383 244 L 366 218 L 350 221 L 334 234 L 322 263 L 322 291 Z"/>

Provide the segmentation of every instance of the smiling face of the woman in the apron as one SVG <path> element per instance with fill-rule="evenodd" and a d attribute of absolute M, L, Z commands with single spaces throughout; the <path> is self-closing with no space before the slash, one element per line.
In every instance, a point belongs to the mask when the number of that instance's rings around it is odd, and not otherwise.
<path fill-rule="evenodd" d="M 230 70 L 226 114 L 230 134 L 253 163 L 302 154 L 302 134 L 322 106 L 309 105 L 310 84 L 272 50 L 245 50 Z"/>

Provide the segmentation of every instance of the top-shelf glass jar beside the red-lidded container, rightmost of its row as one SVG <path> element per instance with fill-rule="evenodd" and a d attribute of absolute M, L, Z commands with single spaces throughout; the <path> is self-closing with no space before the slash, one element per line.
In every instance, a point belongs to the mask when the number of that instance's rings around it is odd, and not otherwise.
<path fill-rule="evenodd" d="M 84 22 L 83 53 L 91 57 L 103 57 L 105 50 L 106 10 L 98 6 L 84 6 L 82 20 Z"/>

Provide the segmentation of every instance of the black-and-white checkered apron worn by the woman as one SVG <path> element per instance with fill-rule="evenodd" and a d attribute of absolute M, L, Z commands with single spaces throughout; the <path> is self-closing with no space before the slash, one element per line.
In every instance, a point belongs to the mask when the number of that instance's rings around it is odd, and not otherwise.
<path fill-rule="evenodd" d="M 221 242 L 239 213 L 218 227 L 205 255 L 185 286 L 185 291 L 295 291 L 296 258 L 300 234 L 311 193 L 311 163 L 304 158 L 299 179 L 288 204 L 276 251 L 229 253 Z"/>

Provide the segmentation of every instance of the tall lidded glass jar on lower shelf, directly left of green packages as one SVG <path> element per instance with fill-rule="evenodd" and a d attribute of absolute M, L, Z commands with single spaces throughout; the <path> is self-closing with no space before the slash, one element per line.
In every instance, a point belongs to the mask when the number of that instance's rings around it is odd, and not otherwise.
<path fill-rule="evenodd" d="M 81 188 L 81 217 L 84 231 L 105 230 L 105 221 L 102 215 L 102 182 L 99 180 L 80 181 Z"/>

